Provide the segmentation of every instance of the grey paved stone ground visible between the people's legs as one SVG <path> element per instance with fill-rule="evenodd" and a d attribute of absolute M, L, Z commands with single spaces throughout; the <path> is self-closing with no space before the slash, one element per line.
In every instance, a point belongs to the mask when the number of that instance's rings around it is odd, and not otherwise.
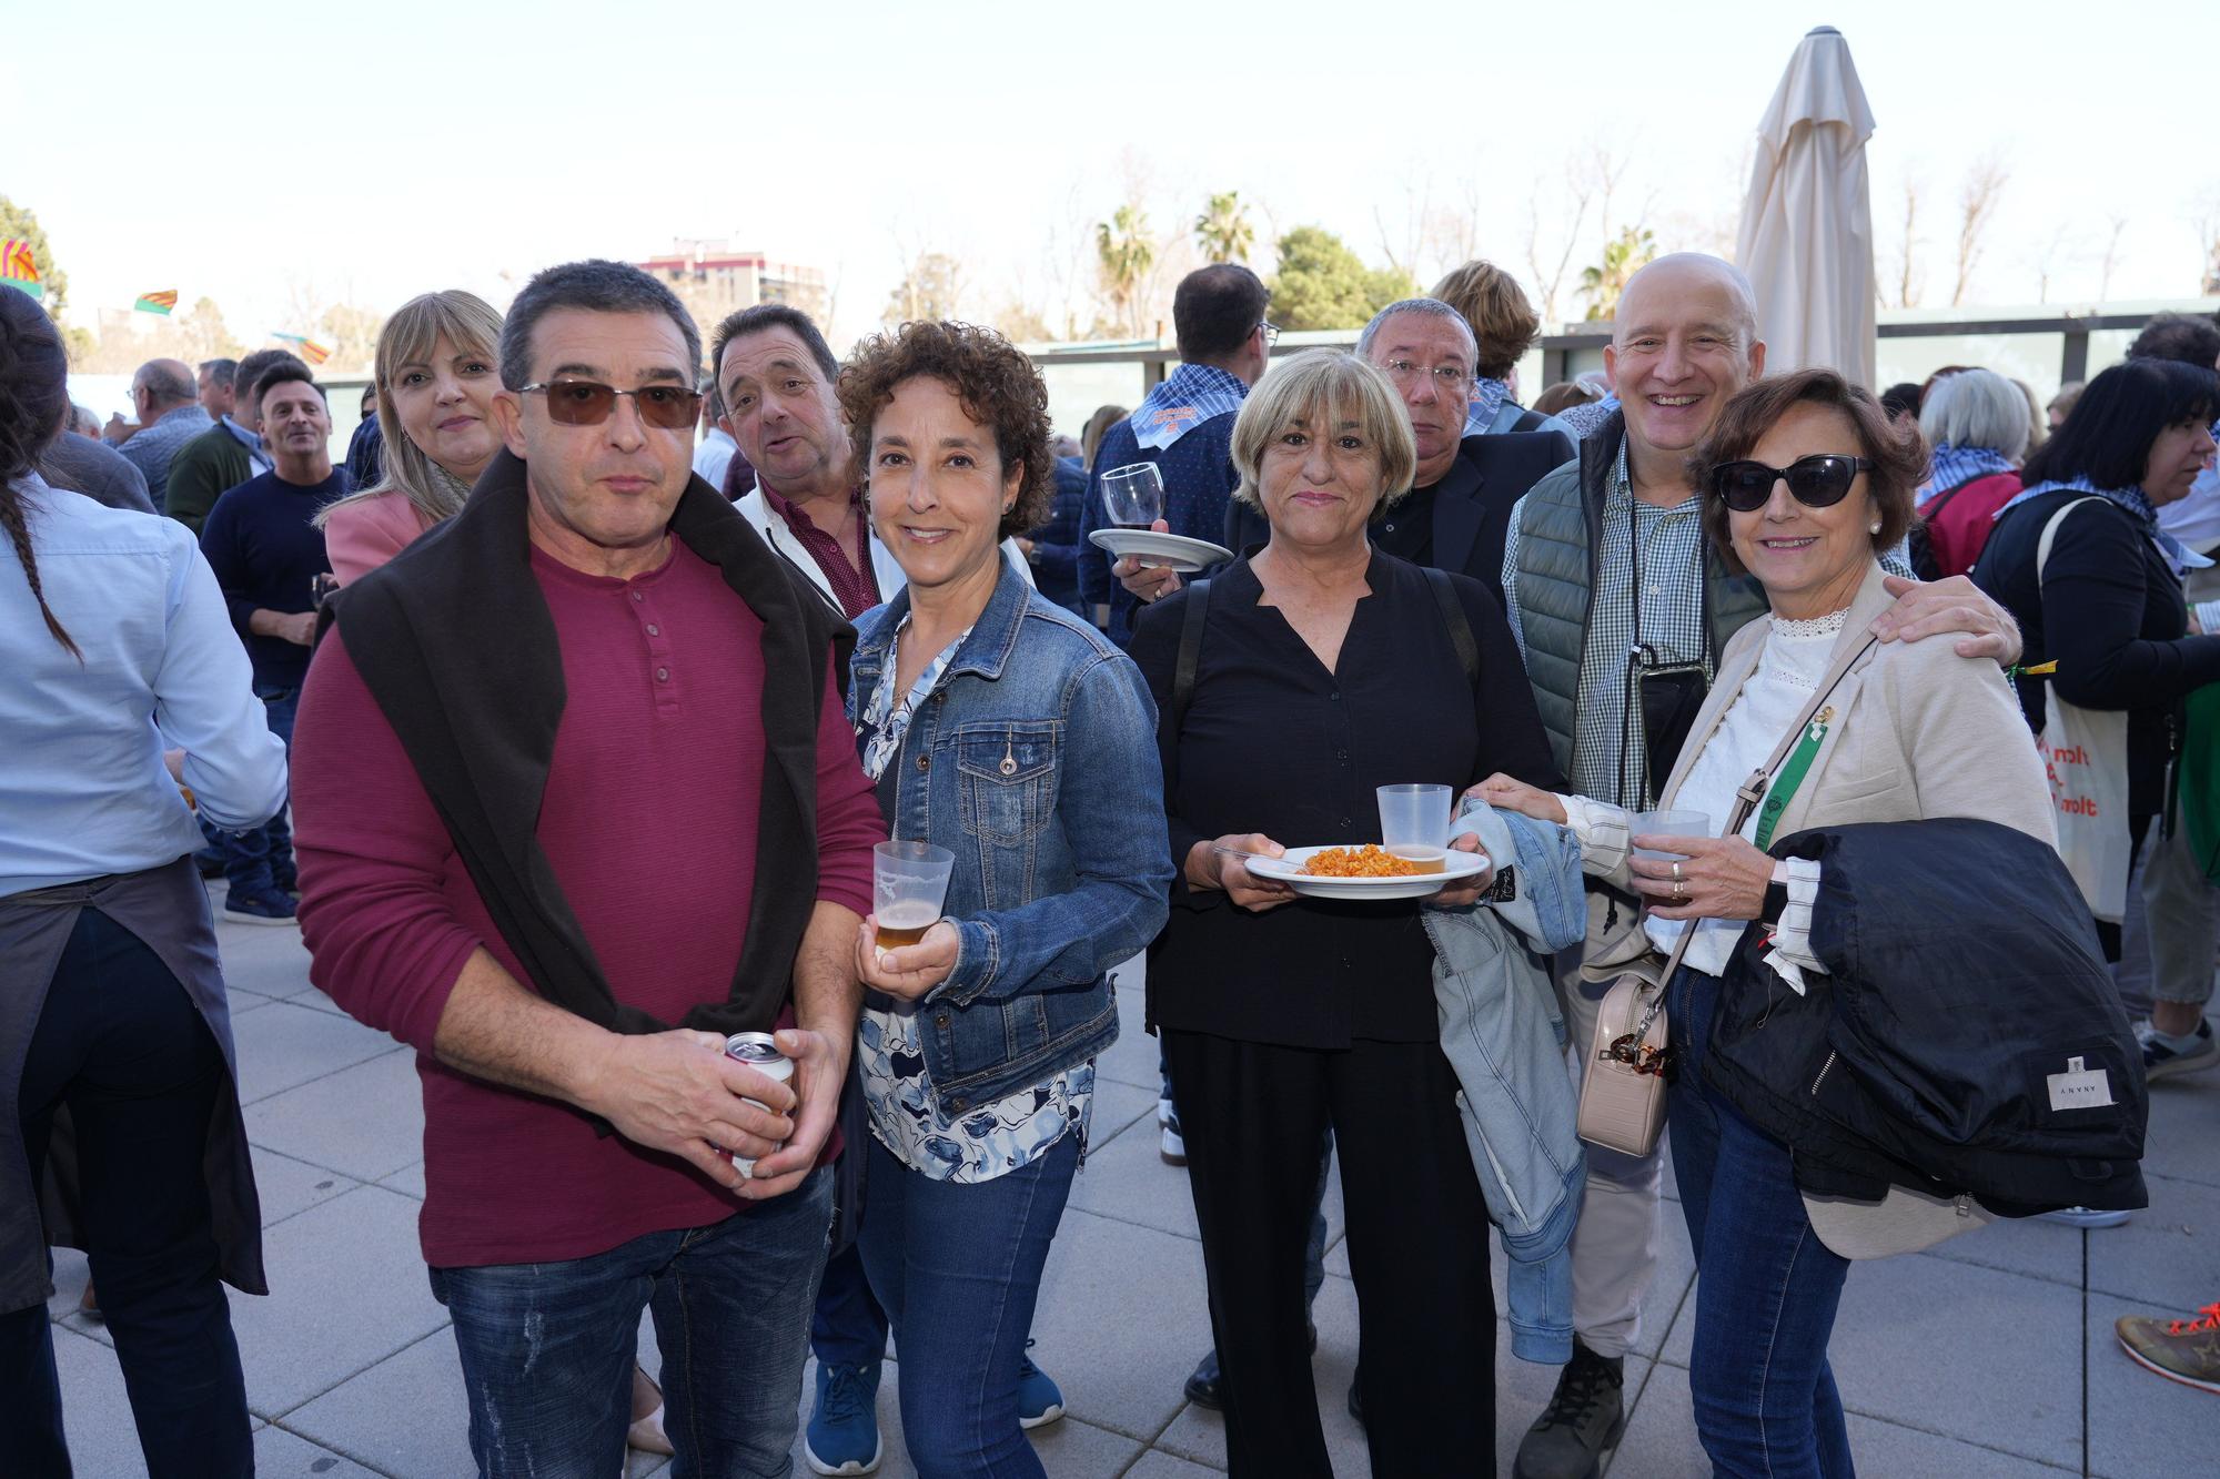
<path fill-rule="evenodd" d="M 297 930 L 226 924 L 220 935 L 275 1290 L 269 1299 L 233 1295 L 260 1472 L 468 1475 L 455 1346 L 415 1241 L 424 1186 L 413 1057 L 309 986 Z M 1035 1355 L 1070 1406 L 1070 1417 L 1035 1435 L 1059 1479 L 1179 1479 L 1225 1463 L 1219 1419 L 1181 1399 L 1190 1364 L 1210 1344 L 1201 1248 L 1183 1173 L 1157 1157 L 1157 1046 L 1141 1033 L 1139 990 L 1121 993 L 1121 1008 L 1126 1033 L 1101 1062 L 1094 1148 L 1035 1324 Z M 2151 1208 L 2129 1226 L 2000 1224 L 1851 1275 L 1834 1364 L 1860 1472 L 2209 1472 L 2220 1401 L 2133 1366 L 2111 1321 L 2182 1315 L 2220 1297 L 2220 1073 L 2160 1084 L 2151 1110 Z M 1343 1408 L 1356 1292 L 1339 1246 L 1339 1188 L 1328 1219 L 1319 1406 L 1334 1468 L 1352 1477 L 1370 1463 Z M 78 1472 L 144 1475 L 107 1330 L 75 1312 L 82 1257 L 60 1252 L 56 1284 L 56 1357 Z M 1632 1417 L 1614 1479 L 1705 1472 L 1687 1397 L 1692 1286 L 1687 1237 L 1678 1208 L 1667 1206 L 1663 1270 L 1627 1359 Z M 1507 1346 L 1499 1330 L 1505 1475 L 1554 1381 L 1554 1370 L 1514 1361 Z M 642 1348 L 655 1350 L 650 1339 Z M 888 1364 L 888 1372 L 881 1472 L 901 1477 L 912 1470 L 901 1457 L 899 1368 Z M 630 1472 L 659 1468 L 635 1457 Z"/>

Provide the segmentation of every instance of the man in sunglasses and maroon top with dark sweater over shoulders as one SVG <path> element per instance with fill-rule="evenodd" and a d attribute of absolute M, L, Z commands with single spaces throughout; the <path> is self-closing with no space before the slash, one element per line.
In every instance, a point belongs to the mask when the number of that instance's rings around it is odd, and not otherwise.
<path fill-rule="evenodd" d="M 420 1239 L 495 1479 L 622 1470 L 644 1306 L 682 1472 L 795 1441 L 886 833 L 846 626 L 693 477 L 699 362 L 639 269 L 533 278 L 506 453 L 326 606 L 295 728 L 311 979 L 417 1050 Z"/>

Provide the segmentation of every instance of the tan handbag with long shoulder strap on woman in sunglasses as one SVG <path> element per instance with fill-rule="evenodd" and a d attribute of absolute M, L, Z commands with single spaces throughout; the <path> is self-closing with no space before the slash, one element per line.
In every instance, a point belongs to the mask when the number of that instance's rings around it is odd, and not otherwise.
<path fill-rule="evenodd" d="M 1796 715 L 1796 724 L 1780 737 L 1772 759 L 1752 771 L 1749 779 L 1736 788 L 1734 815 L 1727 819 L 1721 837 L 1734 837 L 1743 831 L 1749 813 L 1765 799 L 1774 771 L 1780 768 L 1780 762 L 1787 759 L 1796 742 L 1805 737 L 1805 728 L 1814 720 L 1818 722 L 1818 728 L 1812 731 L 1814 751 L 1818 748 L 1818 735 L 1825 733 L 1825 724 L 1834 715 L 1832 708 L 1823 711 L 1820 704 L 1843 682 L 1849 664 L 1869 646 L 1871 640 L 1860 644 L 1847 660 L 1834 664 L 1829 682 Z M 1800 779 L 1803 771 L 1796 771 L 1783 788 L 1787 791 Z M 1783 795 L 1780 806 L 1785 804 L 1787 797 Z M 1767 828 L 1780 806 L 1769 808 Z M 1687 942 L 1694 937 L 1696 922 L 1689 922 L 1689 928 L 1681 930 L 1681 939 L 1674 942 L 1672 955 L 1663 957 L 1663 966 L 1656 964 L 1661 959 L 1658 953 L 1649 950 L 1621 970 L 1612 988 L 1603 993 L 1603 1004 L 1596 1010 L 1596 1033 L 1587 1044 L 1587 1064 L 1581 1070 L 1581 1115 L 1576 1128 L 1587 1144 L 1636 1157 L 1658 1148 L 1658 1135 L 1665 1133 L 1665 988 L 1674 970 L 1681 968 L 1681 955 L 1687 953 Z"/>

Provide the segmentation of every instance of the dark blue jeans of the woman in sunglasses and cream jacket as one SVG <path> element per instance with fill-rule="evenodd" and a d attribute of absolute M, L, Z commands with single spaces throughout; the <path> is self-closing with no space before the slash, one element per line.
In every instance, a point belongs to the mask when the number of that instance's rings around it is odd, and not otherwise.
<path fill-rule="evenodd" d="M 1672 982 L 1672 1168 L 1696 1252 L 1696 1435 L 1718 1475 L 1849 1479 L 1827 1337 L 1849 1259 L 1812 1230 L 1789 1150 L 1703 1081 L 1718 977 Z"/>

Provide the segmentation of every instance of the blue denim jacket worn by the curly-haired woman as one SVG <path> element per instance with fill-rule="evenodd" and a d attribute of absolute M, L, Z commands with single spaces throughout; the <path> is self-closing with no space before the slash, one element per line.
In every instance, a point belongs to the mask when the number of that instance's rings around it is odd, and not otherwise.
<path fill-rule="evenodd" d="M 908 613 L 901 591 L 857 620 L 850 724 Z M 1117 1042 L 1110 966 L 1157 935 L 1172 886 L 1157 706 L 1132 660 L 1003 566 L 888 779 L 892 837 L 957 855 L 941 908 L 957 964 L 919 1004 L 941 1108 Z"/>

